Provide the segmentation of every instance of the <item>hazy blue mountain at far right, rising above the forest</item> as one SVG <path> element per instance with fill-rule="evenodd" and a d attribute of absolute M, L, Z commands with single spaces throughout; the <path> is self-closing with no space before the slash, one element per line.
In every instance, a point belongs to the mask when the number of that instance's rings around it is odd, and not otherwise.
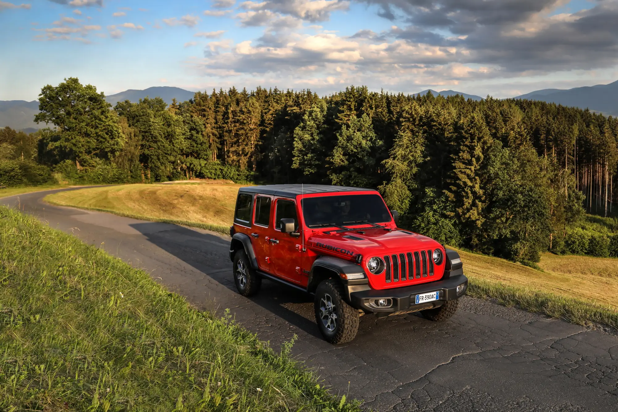
<path fill-rule="evenodd" d="M 515 98 L 541 100 L 582 109 L 589 108 L 607 116 L 618 116 L 618 81 L 589 87 L 575 87 L 568 90 L 544 88 Z"/>

